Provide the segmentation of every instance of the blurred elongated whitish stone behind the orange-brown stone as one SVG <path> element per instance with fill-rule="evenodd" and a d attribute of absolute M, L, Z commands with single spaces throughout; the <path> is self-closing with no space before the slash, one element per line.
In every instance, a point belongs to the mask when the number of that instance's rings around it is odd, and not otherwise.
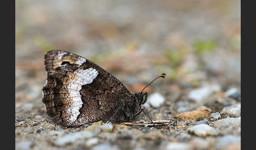
<path fill-rule="evenodd" d="M 189 99 L 195 101 L 202 101 L 204 98 L 208 97 L 212 92 L 219 92 L 220 85 L 207 85 L 202 88 L 198 88 L 190 91 Z"/>

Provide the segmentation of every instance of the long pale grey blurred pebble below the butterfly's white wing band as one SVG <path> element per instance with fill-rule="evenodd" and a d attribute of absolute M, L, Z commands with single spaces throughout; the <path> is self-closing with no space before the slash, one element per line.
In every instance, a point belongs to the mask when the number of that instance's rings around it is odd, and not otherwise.
<path fill-rule="evenodd" d="M 75 141 L 77 141 L 79 139 L 82 139 L 82 138 L 91 138 L 93 136 L 94 136 L 94 134 L 90 131 L 74 132 L 74 133 L 64 135 L 61 138 L 58 138 L 56 143 L 58 145 L 64 145 L 64 144 L 67 144 L 67 143 L 75 142 Z"/>

